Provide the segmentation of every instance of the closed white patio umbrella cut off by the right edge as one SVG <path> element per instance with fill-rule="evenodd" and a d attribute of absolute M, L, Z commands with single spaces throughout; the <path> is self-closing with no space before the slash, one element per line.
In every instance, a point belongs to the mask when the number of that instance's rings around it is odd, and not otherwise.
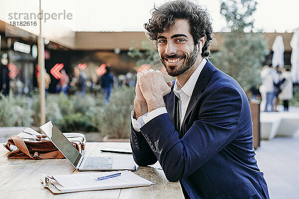
<path fill-rule="evenodd" d="M 294 83 L 299 83 L 299 28 L 294 32 L 291 39 L 291 74 Z"/>

